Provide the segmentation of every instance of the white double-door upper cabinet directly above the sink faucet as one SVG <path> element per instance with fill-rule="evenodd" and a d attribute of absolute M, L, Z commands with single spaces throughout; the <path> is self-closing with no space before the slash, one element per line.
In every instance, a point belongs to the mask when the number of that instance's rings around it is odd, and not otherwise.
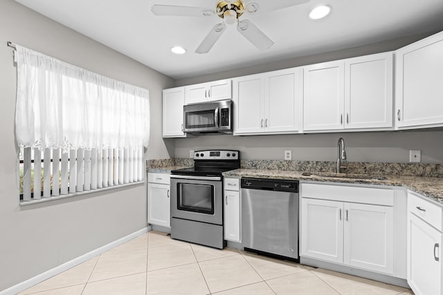
<path fill-rule="evenodd" d="M 304 131 L 392 128 L 392 53 L 305 66 Z"/>

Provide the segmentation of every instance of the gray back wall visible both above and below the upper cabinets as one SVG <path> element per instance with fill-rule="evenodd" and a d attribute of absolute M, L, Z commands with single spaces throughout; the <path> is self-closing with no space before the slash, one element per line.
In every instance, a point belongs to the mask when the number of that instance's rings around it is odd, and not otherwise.
<path fill-rule="evenodd" d="M 442 28 L 443 29 L 443 28 Z M 269 64 L 261 64 L 211 75 L 179 79 L 176 86 L 208 82 L 217 79 L 239 77 L 270 70 L 316 64 L 323 61 L 344 59 L 398 49 L 435 32 L 404 37 L 378 44 L 338 50 L 331 53 L 299 57 Z M 422 162 L 443 163 L 443 131 L 323 133 L 305 135 L 260 135 L 237 137 L 213 135 L 196 138 L 180 138 L 175 142 L 175 155 L 188 158 L 190 149 L 228 148 L 242 151 L 244 159 L 283 160 L 284 150 L 292 151 L 293 160 L 336 160 L 336 144 L 339 137 L 345 139 L 347 159 L 352 162 L 408 162 L 409 150 L 422 150 Z"/>

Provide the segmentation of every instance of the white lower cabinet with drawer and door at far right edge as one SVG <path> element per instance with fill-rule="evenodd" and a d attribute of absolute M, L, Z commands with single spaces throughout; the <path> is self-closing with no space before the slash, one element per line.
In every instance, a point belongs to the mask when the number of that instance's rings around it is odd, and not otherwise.
<path fill-rule="evenodd" d="M 409 194 L 408 284 L 416 295 L 443 294 L 441 229 L 442 208 Z"/>

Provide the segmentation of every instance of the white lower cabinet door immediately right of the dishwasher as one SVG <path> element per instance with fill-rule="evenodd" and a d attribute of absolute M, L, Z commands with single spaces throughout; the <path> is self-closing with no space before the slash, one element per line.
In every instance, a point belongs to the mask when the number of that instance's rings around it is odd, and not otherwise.
<path fill-rule="evenodd" d="M 343 263 L 343 202 L 302 198 L 301 256 Z"/>

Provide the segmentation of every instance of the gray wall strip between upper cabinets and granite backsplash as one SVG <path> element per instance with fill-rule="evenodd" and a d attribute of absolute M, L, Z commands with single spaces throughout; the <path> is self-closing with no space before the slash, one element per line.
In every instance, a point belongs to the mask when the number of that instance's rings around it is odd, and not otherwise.
<path fill-rule="evenodd" d="M 188 158 L 189 150 L 238 149 L 245 160 L 332 161 L 337 159 L 338 138 L 345 140 L 350 162 L 409 162 L 409 150 L 422 151 L 422 162 L 443 163 L 443 131 L 317 133 L 296 135 L 207 135 L 176 140 L 175 154 Z"/>

